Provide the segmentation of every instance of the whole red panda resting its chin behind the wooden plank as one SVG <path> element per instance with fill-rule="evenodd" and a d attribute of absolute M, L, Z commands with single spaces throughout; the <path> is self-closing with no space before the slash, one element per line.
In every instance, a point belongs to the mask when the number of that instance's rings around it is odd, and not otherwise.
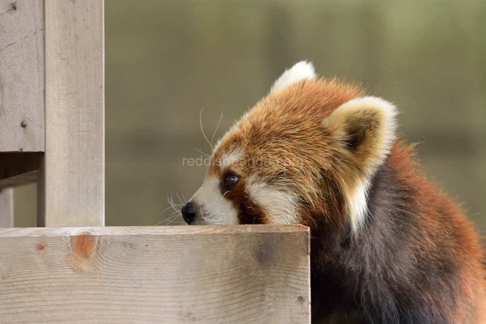
<path fill-rule="evenodd" d="M 299 62 L 215 146 L 183 218 L 309 226 L 312 323 L 486 323 L 479 238 L 396 114 Z"/>

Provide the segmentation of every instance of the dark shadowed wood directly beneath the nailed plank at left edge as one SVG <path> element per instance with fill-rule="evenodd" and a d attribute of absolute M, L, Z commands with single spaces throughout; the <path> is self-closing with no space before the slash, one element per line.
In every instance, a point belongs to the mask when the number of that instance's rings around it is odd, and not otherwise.
<path fill-rule="evenodd" d="M 42 152 L 0 152 L 0 190 L 37 181 Z"/>

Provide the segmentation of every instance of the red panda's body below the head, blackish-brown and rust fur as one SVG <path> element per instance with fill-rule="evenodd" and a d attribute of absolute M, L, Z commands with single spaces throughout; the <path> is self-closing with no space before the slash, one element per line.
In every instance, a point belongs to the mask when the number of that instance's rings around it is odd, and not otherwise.
<path fill-rule="evenodd" d="M 375 175 L 362 235 L 312 229 L 312 323 L 484 323 L 478 237 L 412 156 L 395 144 Z"/>

